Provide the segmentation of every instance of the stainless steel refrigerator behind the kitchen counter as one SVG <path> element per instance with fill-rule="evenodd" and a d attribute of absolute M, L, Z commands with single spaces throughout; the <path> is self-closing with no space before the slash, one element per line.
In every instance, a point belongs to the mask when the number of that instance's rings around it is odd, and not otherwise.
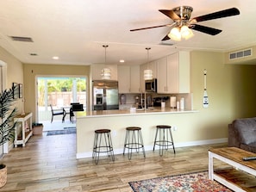
<path fill-rule="evenodd" d="M 95 80 L 92 82 L 93 110 L 111 110 L 119 108 L 118 82 Z"/>

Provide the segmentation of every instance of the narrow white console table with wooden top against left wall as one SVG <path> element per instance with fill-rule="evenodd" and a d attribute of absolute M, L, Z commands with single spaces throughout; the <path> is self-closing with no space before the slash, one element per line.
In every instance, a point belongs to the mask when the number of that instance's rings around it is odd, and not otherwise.
<path fill-rule="evenodd" d="M 28 139 L 32 136 L 32 113 L 26 113 L 24 115 L 17 115 L 14 119 L 18 123 L 15 129 L 15 141 L 14 145 L 17 147 L 17 145 L 25 146 Z M 22 127 L 20 127 L 20 125 Z"/>

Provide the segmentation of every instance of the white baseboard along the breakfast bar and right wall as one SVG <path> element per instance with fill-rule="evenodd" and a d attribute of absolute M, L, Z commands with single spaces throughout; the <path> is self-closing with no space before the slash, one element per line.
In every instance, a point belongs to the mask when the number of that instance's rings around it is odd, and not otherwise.
<path fill-rule="evenodd" d="M 210 145 L 210 144 L 218 144 L 218 143 L 227 143 L 228 138 L 222 138 L 222 139 L 208 139 L 208 140 L 197 140 L 197 141 L 190 141 L 190 142 L 184 142 L 184 143 L 175 143 L 175 148 L 178 147 L 185 147 L 185 146 L 204 146 L 204 145 Z M 153 150 L 153 146 L 145 146 L 145 151 L 151 151 Z M 122 149 L 115 149 L 115 154 L 122 154 Z M 106 153 L 100 154 L 100 156 L 106 156 Z M 77 158 L 91 158 L 92 152 L 80 152 L 77 153 Z"/>

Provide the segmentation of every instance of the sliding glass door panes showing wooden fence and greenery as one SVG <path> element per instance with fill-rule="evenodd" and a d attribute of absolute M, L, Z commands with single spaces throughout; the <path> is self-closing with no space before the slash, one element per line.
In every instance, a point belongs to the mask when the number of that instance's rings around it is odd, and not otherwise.
<path fill-rule="evenodd" d="M 72 102 L 79 102 L 86 108 L 85 77 L 37 77 L 38 121 L 51 121 L 53 109 L 69 110 Z M 54 116 L 62 120 L 62 116 Z"/>

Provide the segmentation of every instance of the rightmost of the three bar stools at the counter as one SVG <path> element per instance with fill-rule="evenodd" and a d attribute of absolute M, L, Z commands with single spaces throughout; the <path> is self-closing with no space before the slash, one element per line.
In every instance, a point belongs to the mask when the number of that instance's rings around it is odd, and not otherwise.
<path fill-rule="evenodd" d="M 164 148 L 168 150 L 168 146 L 172 146 L 173 152 L 175 154 L 174 143 L 172 139 L 172 127 L 159 125 L 156 126 L 157 130 L 155 133 L 155 139 L 153 142 L 153 151 L 155 146 L 159 146 L 159 155 L 163 155 Z M 159 136 L 159 139 L 158 139 Z"/>

